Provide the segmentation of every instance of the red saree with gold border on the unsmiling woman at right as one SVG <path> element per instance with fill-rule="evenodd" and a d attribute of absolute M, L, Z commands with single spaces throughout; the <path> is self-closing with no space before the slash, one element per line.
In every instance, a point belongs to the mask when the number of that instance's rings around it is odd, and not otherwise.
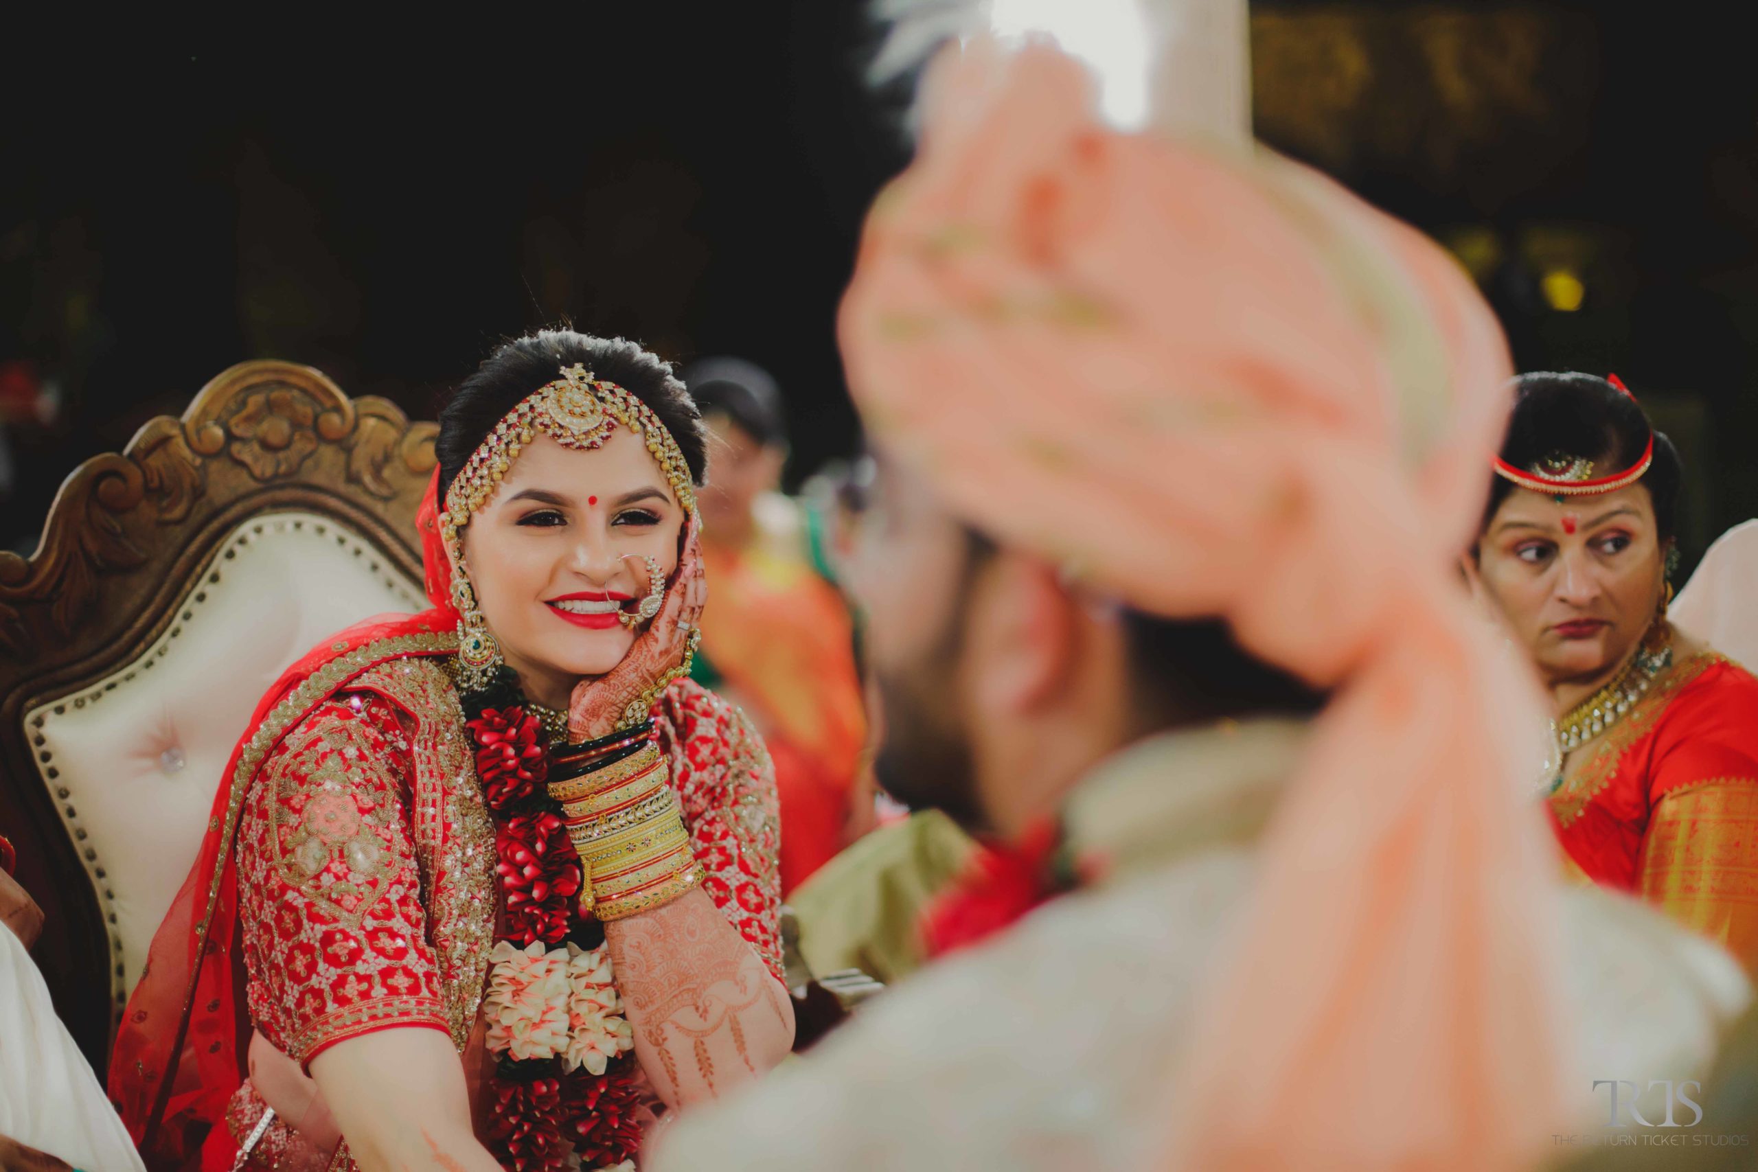
<path fill-rule="evenodd" d="M 1645 689 L 1640 675 L 1609 698 L 1616 719 L 1549 796 L 1566 866 L 1658 905 L 1758 975 L 1758 680 L 1711 650 L 1668 655 Z"/>

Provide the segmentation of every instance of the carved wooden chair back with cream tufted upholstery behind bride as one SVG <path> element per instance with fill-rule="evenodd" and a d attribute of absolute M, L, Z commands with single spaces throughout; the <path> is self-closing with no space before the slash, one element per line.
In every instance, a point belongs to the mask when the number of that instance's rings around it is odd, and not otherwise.
<path fill-rule="evenodd" d="M 62 485 L 0 553 L 0 831 L 98 1070 L 257 699 L 327 633 L 425 606 L 434 423 L 246 362 Z"/>

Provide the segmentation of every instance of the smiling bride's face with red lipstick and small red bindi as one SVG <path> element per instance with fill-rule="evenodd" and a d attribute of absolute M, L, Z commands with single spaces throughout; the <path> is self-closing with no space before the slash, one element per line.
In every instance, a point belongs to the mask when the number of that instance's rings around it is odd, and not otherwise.
<path fill-rule="evenodd" d="M 566 708 L 640 631 L 617 615 L 647 592 L 643 559 L 677 568 L 684 508 L 628 427 L 591 452 L 536 436 L 461 532 L 476 604 L 526 694 Z"/>

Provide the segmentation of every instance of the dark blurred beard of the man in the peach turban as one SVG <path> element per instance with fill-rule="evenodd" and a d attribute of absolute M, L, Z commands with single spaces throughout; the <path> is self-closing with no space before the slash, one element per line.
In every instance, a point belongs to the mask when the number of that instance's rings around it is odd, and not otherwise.
<path fill-rule="evenodd" d="M 933 807 L 965 829 L 983 831 L 988 817 L 977 798 L 970 738 L 953 687 L 965 611 L 963 604 L 955 610 L 919 662 L 874 673 L 884 720 L 874 773 L 886 792 L 909 808 Z"/>

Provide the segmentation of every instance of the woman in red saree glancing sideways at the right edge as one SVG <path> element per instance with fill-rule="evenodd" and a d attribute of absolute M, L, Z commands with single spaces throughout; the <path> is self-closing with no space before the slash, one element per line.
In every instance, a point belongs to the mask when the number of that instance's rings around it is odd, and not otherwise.
<path fill-rule="evenodd" d="M 1758 680 L 1672 626 L 1679 455 L 1623 383 L 1528 374 L 1475 548 L 1551 689 L 1544 771 L 1570 873 L 1660 905 L 1758 972 Z"/>

